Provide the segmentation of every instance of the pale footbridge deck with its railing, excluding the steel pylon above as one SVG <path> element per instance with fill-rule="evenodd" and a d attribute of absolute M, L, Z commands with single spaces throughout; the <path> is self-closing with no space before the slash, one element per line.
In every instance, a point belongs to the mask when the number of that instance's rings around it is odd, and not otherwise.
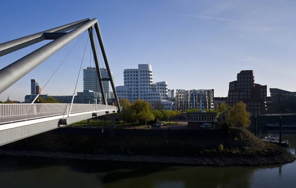
<path fill-rule="evenodd" d="M 0 104 L 0 146 L 117 110 L 104 104 Z"/>

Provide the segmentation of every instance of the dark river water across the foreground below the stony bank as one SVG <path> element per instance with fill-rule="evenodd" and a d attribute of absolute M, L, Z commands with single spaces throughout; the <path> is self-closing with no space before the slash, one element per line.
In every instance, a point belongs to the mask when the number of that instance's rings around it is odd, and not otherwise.
<path fill-rule="evenodd" d="M 283 134 L 295 154 L 296 134 Z M 0 188 L 296 188 L 296 162 L 186 167 L 0 157 Z"/>

